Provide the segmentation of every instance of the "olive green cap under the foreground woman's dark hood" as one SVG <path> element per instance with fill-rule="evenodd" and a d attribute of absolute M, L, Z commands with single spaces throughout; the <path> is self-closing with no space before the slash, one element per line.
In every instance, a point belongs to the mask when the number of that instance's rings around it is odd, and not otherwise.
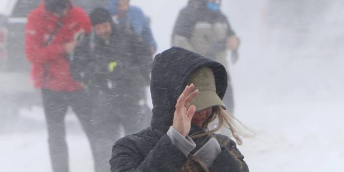
<path fill-rule="evenodd" d="M 203 110 L 212 106 L 226 106 L 221 98 L 216 94 L 216 83 L 214 73 L 210 68 L 204 67 L 189 76 L 187 84 L 194 84 L 195 90 L 198 89 L 199 93 L 191 100 L 189 106 L 195 105 L 196 111 Z"/>

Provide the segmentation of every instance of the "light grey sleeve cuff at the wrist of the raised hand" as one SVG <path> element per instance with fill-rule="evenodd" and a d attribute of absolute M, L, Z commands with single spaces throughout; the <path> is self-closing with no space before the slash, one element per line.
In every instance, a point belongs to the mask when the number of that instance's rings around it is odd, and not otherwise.
<path fill-rule="evenodd" d="M 191 137 L 183 137 L 173 126 L 167 131 L 167 135 L 171 139 L 172 144 L 177 147 L 186 157 L 196 147 L 195 142 Z"/>

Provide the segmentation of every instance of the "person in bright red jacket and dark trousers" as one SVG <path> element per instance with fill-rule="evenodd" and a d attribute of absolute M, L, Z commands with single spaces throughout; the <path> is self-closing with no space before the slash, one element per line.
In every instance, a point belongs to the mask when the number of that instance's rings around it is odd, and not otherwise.
<path fill-rule="evenodd" d="M 68 107 L 72 107 L 89 140 L 92 138 L 89 98 L 73 80 L 69 63 L 77 35 L 91 30 L 86 12 L 70 0 L 42 0 L 27 17 L 25 54 L 34 86 L 42 90 L 54 172 L 69 171 L 64 126 Z"/>

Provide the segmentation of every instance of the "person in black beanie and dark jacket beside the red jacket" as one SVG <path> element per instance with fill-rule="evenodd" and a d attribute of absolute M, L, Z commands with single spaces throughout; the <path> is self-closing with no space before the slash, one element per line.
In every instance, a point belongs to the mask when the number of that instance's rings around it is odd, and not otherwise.
<path fill-rule="evenodd" d="M 150 114 L 141 110 L 139 95 L 140 85 L 149 81 L 152 59 L 149 45 L 119 29 L 106 9 L 95 9 L 90 19 L 94 31 L 76 47 L 71 69 L 92 95 L 95 166 L 97 172 L 106 172 L 121 128 L 130 134 L 149 125 Z"/>

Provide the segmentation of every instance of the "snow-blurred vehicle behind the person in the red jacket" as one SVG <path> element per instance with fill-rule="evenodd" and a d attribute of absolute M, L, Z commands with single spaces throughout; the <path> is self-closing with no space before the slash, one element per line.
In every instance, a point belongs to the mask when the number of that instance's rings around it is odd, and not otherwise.
<path fill-rule="evenodd" d="M 0 5 L 0 126 L 19 116 L 20 109 L 41 105 L 41 94 L 34 89 L 30 65 L 25 58 L 25 25 L 28 13 L 42 0 L 1 0 Z M 90 13 L 107 0 L 72 0 Z M 1 129 L 0 129 L 1 130 Z"/>

